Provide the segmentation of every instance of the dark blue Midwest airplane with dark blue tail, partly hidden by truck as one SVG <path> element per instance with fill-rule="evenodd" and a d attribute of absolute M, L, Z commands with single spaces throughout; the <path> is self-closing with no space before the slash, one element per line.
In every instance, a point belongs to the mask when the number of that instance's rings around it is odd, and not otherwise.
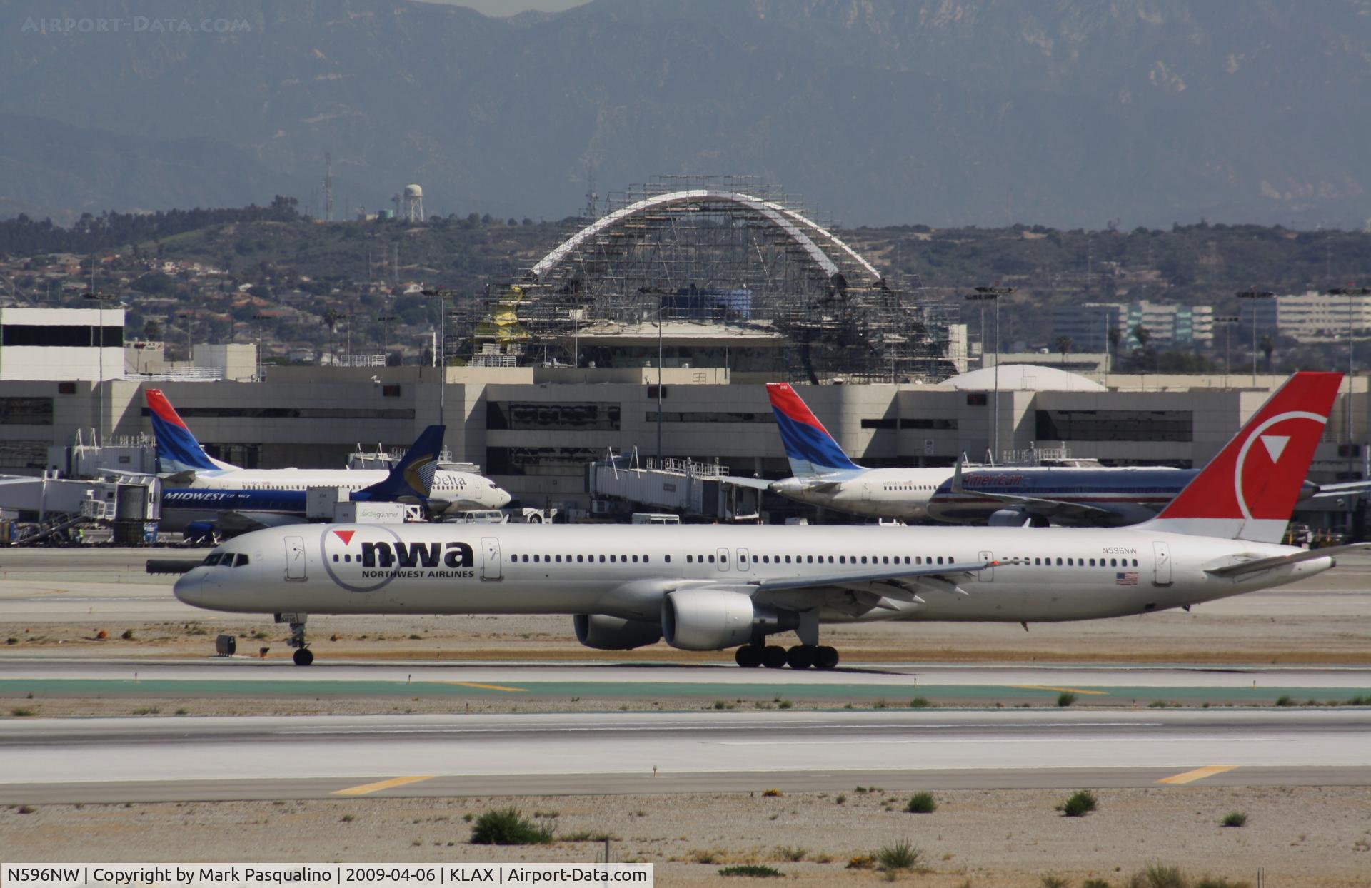
<path fill-rule="evenodd" d="M 384 480 L 354 491 L 354 502 L 429 504 L 432 463 L 443 449 L 443 426 L 429 426 Z M 306 491 L 174 488 L 162 491 L 162 530 L 217 532 L 225 536 L 304 523 Z"/>

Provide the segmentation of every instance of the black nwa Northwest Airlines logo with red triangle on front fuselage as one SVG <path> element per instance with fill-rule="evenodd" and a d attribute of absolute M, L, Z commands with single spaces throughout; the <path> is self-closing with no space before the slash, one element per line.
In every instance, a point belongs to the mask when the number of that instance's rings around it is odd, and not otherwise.
<path fill-rule="evenodd" d="M 352 592 L 374 592 L 392 580 L 472 580 L 476 550 L 461 541 L 402 540 L 377 525 L 330 528 L 319 539 L 324 570 Z"/>

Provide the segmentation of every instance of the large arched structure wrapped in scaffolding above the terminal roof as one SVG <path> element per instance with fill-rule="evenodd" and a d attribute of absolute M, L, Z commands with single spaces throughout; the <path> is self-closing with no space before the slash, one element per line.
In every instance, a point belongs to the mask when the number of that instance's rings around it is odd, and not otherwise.
<path fill-rule="evenodd" d="M 478 311 L 455 326 L 481 366 L 642 366 L 661 355 L 666 366 L 816 384 L 956 373 L 941 303 L 901 292 L 753 178 L 661 177 L 611 195 Z"/>

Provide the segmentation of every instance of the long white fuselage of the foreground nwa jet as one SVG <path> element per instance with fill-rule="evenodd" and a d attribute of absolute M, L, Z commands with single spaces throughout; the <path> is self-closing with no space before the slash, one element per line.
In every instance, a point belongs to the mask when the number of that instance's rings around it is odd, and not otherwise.
<path fill-rule="evenodd" d="M 402 552 L 387 565 L 380 544 Z M 369 547 L 369 548 L 367 548 Z M 307 525 L 244 534 L 175 585 L 211 610 L 299 614 L 606 614 L 659 619 L 670 592 L 727 587 L 821 622 L 1052 622 L 1120 617 L 1278 587 L 1331 558 L 1239 578 L 1205 569 L 1297 550 L 1148 529 Z M 369 555 L 363 555 L 369 552 Z M 972 573 L 958 565 L 998 560 Z M 824 585 L 903 566 L 936 577 Z M 814 580 L 757 591 L 757 580 Z M 750 591 L 751 589 L 751 591 Z M 914 595 L 910 595 L 913 592 Z"/>

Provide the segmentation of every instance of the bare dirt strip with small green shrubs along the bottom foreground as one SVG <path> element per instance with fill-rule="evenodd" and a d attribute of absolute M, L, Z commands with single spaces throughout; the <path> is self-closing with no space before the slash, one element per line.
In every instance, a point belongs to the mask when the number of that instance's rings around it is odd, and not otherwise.
<path fill-rule="evenodd" d="M 1178 866 L 1282 888 L 1371 885 L 1371 789 L 1167 787 L 1100 791 L 1100 807 L 1068 818 L 1065 791 L 935 792 L 932 814 L 903 811 L 906 795 L 846 793 L 494 799 L 348 799 L 276 803 L 38 806 L 0 811 L 7 861 L 555 862 L 655 863 L 659 885 L 736 883 L 729 863 L 766 863 L 787 885 L 864 885 L 886 877 L 849 869 L 854 856 L 908 839 L 928 888 L 1026 888 L 1056 874 L 1080 885 L 1126 885 L 1149 865 Z M 840 800 L 840 802 L 839 802 Z M 469 844 L 468 815 L 514 804 L 561 837 L 550 846 Z M 1248 825 L 1220 826 L 1230 811 Z M 743 883 L 746 884 L 746 883 Z"/>

